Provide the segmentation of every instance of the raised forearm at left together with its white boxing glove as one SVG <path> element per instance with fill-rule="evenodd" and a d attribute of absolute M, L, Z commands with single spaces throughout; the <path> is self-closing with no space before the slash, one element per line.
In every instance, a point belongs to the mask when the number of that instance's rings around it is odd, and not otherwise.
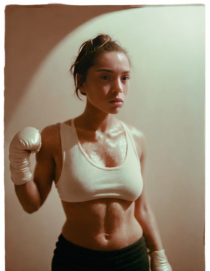
<path fill-rule="evenodd" d="M 9 145 L 9 169 L 15 192 L 23 209 L 32 213 L 39 209 L 41 197 L 36 183 L 32 179 L 29 157 L 41 147 L 41 135 L 33 127 L 19 131 Z"/>

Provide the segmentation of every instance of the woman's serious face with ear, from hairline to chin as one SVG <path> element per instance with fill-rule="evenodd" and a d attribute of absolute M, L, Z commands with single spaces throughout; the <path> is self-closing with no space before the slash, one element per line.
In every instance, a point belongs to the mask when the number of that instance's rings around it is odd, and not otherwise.
<path fill-rule="evenodd" d="M 86 93 L 87 105 L 103 112 L 117 114 L 129 91 L 130 65 L 123 53 L 100 54 L 95 65 L 87 71 L 81 91 Z"/>

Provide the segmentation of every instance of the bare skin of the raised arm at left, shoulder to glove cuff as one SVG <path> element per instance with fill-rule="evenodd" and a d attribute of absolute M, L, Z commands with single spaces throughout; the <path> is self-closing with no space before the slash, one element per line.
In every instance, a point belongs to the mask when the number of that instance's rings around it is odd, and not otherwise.
<path fill-rule="evenodd" d="M 29 214 L 37 211 L 47 198 L 53 182 L 55 162 L 52 155 L 53 126 L 42 133 L 42 146 L 36 153 L 34 178 L 22 185 L 15 185 L 15 192 L 23 209 Z"/>

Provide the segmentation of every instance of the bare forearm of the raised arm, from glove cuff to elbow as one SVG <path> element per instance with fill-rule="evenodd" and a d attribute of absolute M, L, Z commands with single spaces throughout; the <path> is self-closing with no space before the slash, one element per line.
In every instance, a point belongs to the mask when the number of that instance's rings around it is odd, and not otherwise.
<path fill-rule="evenodd" d="M 31 214 L 41 206 L 41 196 L 36 183 L 31 179 L 22 185 L 15 185 L 15 192 L 23 209 Z"/>

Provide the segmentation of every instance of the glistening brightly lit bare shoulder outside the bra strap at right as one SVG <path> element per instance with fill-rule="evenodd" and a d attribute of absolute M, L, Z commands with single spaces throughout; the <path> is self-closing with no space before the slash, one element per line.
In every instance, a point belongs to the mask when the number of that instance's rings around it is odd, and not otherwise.
<path fill-rule="evenodd" d="M 141 131 L 140 129 L 138 129 L 132 125 L 129 125 L 129 124 L 126 124 L 126 125 L 131 133 L 133 140 L 134 140 L 139 159 L 141 159 L 141 156 L 146 153 L 147 138 L 146 138 L 145 134 L 143 133 L 143 131 Z"/>

